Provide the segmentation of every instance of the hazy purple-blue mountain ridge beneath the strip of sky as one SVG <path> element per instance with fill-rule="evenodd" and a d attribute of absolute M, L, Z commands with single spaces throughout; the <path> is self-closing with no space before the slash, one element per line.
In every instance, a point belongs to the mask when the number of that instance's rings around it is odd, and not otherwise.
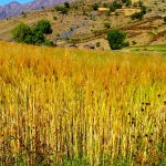
<path fill-rule="evenodd" d="M 39 10 L 42 8 L 59 6 L 64 3 L 65 1 L 73 1 L 73 0 L 34 0 L 29 3 L 20 4 L 15 1 L 12 1 L 6 6 L 0 7 L 0 20 L 11 17 L 17 17 L 22 12 L 31 11 L 31 10 Z"/>

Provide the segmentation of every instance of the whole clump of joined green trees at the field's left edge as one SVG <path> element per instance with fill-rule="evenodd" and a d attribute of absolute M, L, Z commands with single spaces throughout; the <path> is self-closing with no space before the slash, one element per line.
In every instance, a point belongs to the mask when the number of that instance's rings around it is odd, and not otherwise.
<path fill-rule="evenodd" d="M 19 43 L 37 44 L 37 45 L 53 45 L 46 41 L 44 34 L 51 34 L 51 23 L 48 20 L 39 21 L 32 29 L 21 22 L 12 30 L 13 39 Z"/>

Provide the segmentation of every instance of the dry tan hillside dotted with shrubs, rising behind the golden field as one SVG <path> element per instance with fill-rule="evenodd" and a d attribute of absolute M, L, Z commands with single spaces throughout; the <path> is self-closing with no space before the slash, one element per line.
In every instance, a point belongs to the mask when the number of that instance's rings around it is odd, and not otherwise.
<path fill-rule="evenodd" d="M 163 0 L 145 1 L 147 13 L 141 21 L 133 21 L 129 17 L 131 12 L 139 10 L 138 7 L 124 6 L 123 9 L 107 15 L 106 11 L 93 10 L 95 2 L 92 0 L 71 2 L 68 14 L 61 14 L 52 7 L 3 19 L 0 21 L 0 39 L 12 41 L 10 32 L 21 21 L 32 27 L 39 20 L 46 19 L 51 21 L 53 29 L 53 33 L 46 38 L 59 46 L 69 46 L 73 43 L 79 48 L 84 48 L 86 44 L 95 46 L 100 42 L 101 46 L 96 49 L 110 50 L 105 37 L 111 29 L 127 32 L 127 41 L 133 46 L 165 44 L 166 24 L 162 17 L 166 14 L 166 3 Z M 107 1 L 102 1 L 100 7 L 103 7 L 104 2 Z M 105 23 L 110 23 L 111 28 L 105 28 Z"/>

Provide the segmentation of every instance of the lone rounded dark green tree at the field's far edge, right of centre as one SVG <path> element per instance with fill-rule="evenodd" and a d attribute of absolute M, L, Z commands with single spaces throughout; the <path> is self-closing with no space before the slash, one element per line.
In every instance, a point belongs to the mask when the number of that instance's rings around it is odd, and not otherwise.
<path fill-rule="evenodd" d="M 120 30 L 111 30 L 107 34 L 108 44 L 112 50 L 121 50 L 122 48 L 128 46 L 129 43 L 125 42 L 126 33 Z"/>

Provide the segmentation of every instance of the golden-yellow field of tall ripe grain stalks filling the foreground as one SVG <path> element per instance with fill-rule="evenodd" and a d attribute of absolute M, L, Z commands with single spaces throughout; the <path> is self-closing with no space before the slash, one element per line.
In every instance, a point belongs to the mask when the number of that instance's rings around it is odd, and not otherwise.
<path fill-rule="evenodd" d="M 166 56 L 0 42 L 0 165 L 166 165 Z"/>

